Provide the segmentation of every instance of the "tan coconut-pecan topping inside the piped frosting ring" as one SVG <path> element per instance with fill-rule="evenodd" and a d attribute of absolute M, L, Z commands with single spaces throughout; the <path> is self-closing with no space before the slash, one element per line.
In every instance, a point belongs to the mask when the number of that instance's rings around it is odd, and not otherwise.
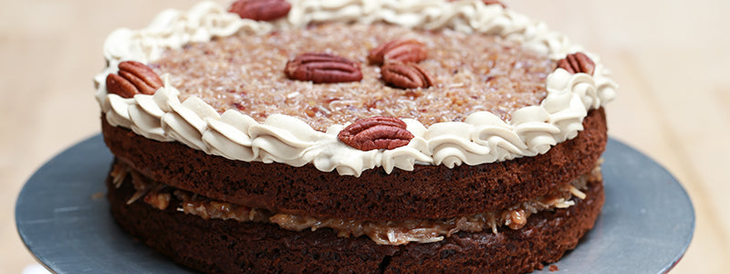
<path fill-rule="evenodd" d="M 369 64 L 370 50 L 402 39 L 423 43 L 429 57 L 419 66 L 433 77 L 433 87 L 391 87 L 381 80 L 381 67 Z M 348 58 L 360 65 L 363 78 L 334 84 L 287 79 L 287 61 L 304 52 Z M 188 44 L 166 51 L 150 66 L 159 75 L 170 74 L 170 84 L 178 87 L 183 100 L 196 96 L 219 113 L 239 110 L 258 122 L 270 114 L 286 114 L 324 132 L 332 124 L 374 116 L 411 118 L 431 126 L 489 111 L 508 121 L 512 111 L 545 98 L 545 79 L 556 64 L 501 37 L 329 23 Z"/>

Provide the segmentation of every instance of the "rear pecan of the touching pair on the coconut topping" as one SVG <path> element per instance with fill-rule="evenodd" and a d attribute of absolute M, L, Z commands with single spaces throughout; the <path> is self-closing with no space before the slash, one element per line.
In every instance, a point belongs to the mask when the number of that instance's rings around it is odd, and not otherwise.
<path fill-rule="evenodd" d="M 389 61 L 418 63 L 428 57 L 426 46 L 415 39 L 396 39 L 375 47 L 368 53 L 370 64 L 381 65 Z"/>

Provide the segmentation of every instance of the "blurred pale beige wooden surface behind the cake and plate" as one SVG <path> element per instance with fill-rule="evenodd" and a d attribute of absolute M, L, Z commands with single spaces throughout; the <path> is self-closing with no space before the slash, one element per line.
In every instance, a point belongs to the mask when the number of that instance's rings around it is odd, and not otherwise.
<path fill-rule="evenodd" d="M 195 1 L 0 1 L 0 272 L 19 273 L 34 258 L 17 236 L 16 196 L 42 163 L 99 132 L 91 79 L 104 38 Z M 662 163 L 694 203 L 694 239 L 674 273 L 730 269 L 730 2 L 506 3 L 612 69 L 610 135 Z"/>

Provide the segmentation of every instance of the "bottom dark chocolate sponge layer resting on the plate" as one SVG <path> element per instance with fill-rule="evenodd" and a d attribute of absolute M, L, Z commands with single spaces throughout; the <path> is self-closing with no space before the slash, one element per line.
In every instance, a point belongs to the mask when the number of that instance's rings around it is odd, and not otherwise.
<path fill-rule="evenodd" d="M 127 180 L 130 180 L 129 178 Z M 459 232 L 443 241 L 381 246 L 338 237 L 329 228 L 290 231 L 276 225 L 203 219 L 138 200 L 132 184 L 107 180 L 111 213 L 132 236 L 177 263 L 210 273 L 522 273 L 541 269 L 578 244 L 603 205 L 603 184 L 589 181 L 575 205 L 530 216 L 521 229 Z"/>

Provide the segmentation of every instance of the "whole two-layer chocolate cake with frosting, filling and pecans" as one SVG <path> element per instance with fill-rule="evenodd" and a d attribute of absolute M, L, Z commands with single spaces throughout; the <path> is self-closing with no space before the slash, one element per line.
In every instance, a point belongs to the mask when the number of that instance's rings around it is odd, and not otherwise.
<path fill-rule="evenodd" d="M 600 59 L 496 1 L 241 0 L 108 38 L 120 227 L 212 273 L 522 273 L 600 215 Z"/>

